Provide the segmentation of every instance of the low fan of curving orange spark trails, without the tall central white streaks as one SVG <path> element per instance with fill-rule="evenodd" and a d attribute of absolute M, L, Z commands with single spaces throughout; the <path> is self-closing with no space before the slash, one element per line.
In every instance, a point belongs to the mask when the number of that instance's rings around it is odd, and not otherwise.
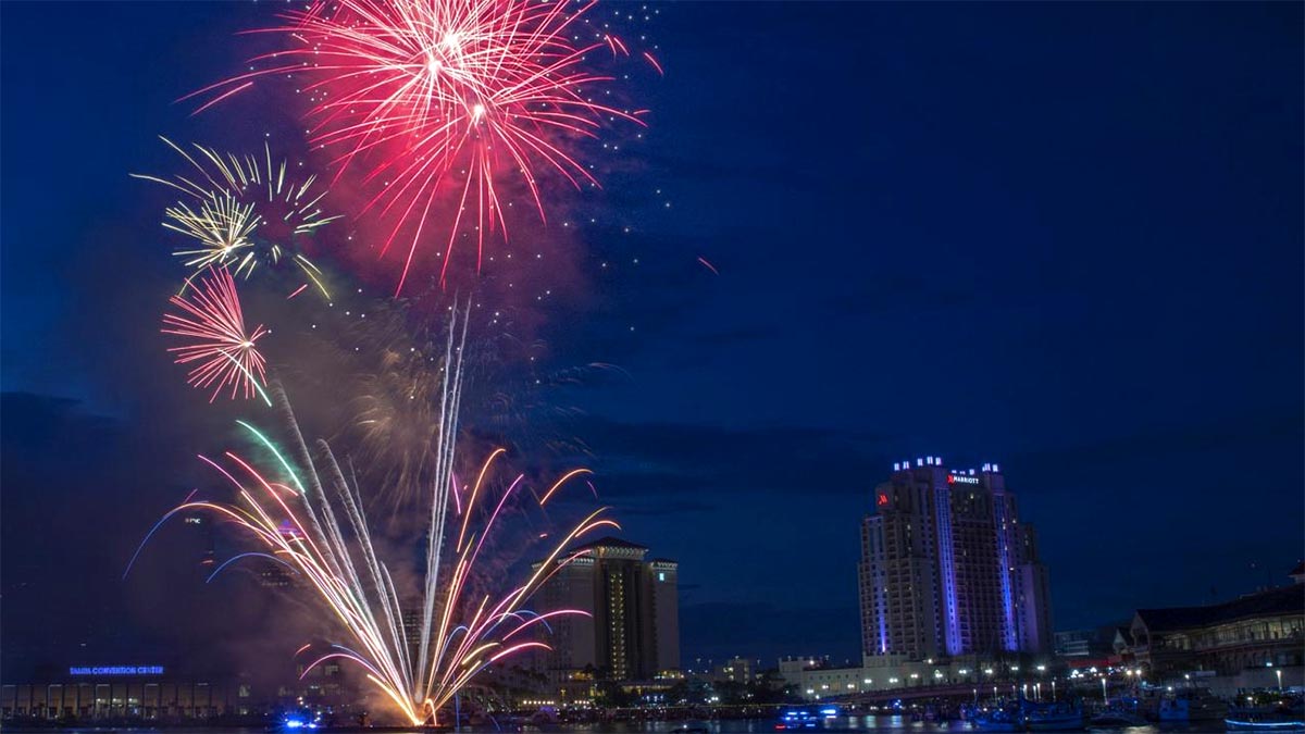
<path fill-rule="evenodd" d="M 288 404 L 279 391 L 277 398 L 278 407 L 288 413 Z M 512 490 L 521 486 L 522 479 L 517 477 L 495 512 L 479 528 L 479 542 L 466 543 L 458 552 L 450 584 L 441 588 L 437 576 L 425 579 L 424 603 L 427 609 L 432 603 L 437 606 L 440 635 L 436 639 L 423 635 L 422 657 L 411 660 L 399 593 L 389 568 L 376 554 L 359 490 L 345 477 L 330 448 L 318 443 L 322 458 L 296 468 L 284 461 L 266 436 L 241 424 L 256 440 L 271 448 L 288 477 L 278 481 L 270 471 L 260 470 L 234 452 L 226 452 L 217 460 L 201 456 L 234 486 L 238 499 L 232 503 L 188 499 L 166 513 L 159 525 L 179 513 L 211 512 L 257 541 L 264 551 L 253 555 L 270 554 L 300 573 L 315 598 L 330 610 L 352 641 L 352 646 L 333 645 L 330 652 L 308 663 L 307 670 L 328 660 L 351 660 L 367 670 L 367 678 L 411 724 L 419 725 L 488 665 L 526 649 L 547 648 L 538 640 L 514 637 L 540 624 L 547 627 L 549 618 L 585 614 L 577 610 L 534 614 L 522 605 L 552 573 L 579 556 L 566 554 L 568 545 L 599 528 L 616 526 L 613 521 L 600 517 L 606 508 L 589 515 L 568 532 L 547 555 L 545 563 L 525 582 L 497 599 L 488 594 L 479 598 L 468 596 L 467 580 L 479 550 L 484 538 L 495 532 L 499 511 L 513 495 Z M 294 428 L 291 432 L 298 448 L 307 451 L 303 436 Z M 307 486 L 300 475 L 308 478 Z M 467 512 L 471 511 L 468 507 Z M 153 533 L 146 535 L 142 547 Z M 432 543 L 441 541 L 441 537 L 432 535 Z M 236 558 L 247 555 L 251 554 Z M 458 622 L 458 616 L 468 615 L 468 611 L 470 618 Z M 300 652 L 305 650 L 307 646 L 300 648 Z"/>

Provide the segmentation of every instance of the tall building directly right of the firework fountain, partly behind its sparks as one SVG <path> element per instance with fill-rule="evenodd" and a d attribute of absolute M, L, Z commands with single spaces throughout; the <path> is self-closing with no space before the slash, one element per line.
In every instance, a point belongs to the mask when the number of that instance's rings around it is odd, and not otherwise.
<path fill-rule="evenodd" d="M 557 683 L 577 679 L 652 680 L 680 667 L 679 564 L 646 560 L 646 547 L 602 538 L 572 549 L 535 594 L 540 613 L 573 609 L 583 615 L 549 619 L 539 656 Z M 538 568 L 538 566 L 536 566 Z"/>

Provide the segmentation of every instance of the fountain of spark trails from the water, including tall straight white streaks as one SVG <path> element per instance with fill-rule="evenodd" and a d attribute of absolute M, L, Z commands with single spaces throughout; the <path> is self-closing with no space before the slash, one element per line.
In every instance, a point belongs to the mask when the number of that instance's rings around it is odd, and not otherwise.
<path fill-rule="evenodd" d="M 231 283 L 230 274 L 223 282 Z M 196 290 L 207 293 L 209 287 L 207 279 L 201 279 Z M 161 525 L 187 511 L 206 511 L 231 521 L 261 547 L 228 559 L 217 571 L 251 555 L 270 555 L 288 566 L 348 636 L 348 646 L 333 645 L 312 660 L 308 669 L 337 658 L 356 662 L 414 725 L 431 720 L 485 666 L 522 650 L 547 648 L 527 632 L 547 627 L 551 618 L 585 614 L 578 610 L 535 614 L 523 605 L 557 569 L 577 558 L 565 550 L 577 538 L 599 528 L 617 528 L 616 522 L 603 517 L 606 508 L 600 508 L 565 533 L 552 546 L 544 563 L 523 582 L 501 596 L 472 594 L 468 584 L 480 552 L 495 534 L 502 509 L 519 494 L 523 477 L 517 475 L 509 483 L 492 509 L 482 509 L 495 462 L 504 455 L 504 449 L 496 449 L 480 466 L 475 482 L 465 485 L 470 487 L 465 502 L 457 496 L 459 483 L 453 465 L 466 337 L 467 315 L 454 308 L 444 347 L 438 445 L 435 451 L 437 481 L 432 482 L 429 495 L 427 558 L 419 589 L 422 626 L 415 650 L 408 646 L 408 640 L 410 632 L 416 630 L 407 628 L 399 589 L 389 567 L 376 552 L 356 478 L 346 475 L 325 441 L 316 443 L 315 460 L 279 387 L 273 389 L 275 409 L 286 426 L 290 451 L 279 448 L 251 423 L 238 422 L 254 444 L 270 455 L 270 460 L 264 462 L 266 466 L 260 468 L 234 452 L 215 458 L 201 456 L 231 483 L 236 500 L 196 500 L 192 492 L 183 504 L 166 513 L 141 542 L 144 549 Z M 536 500 L 539 507 L 570 478 L 585 473 L 587 470 L 564 474 L 543 499 Z M 449 515 L 450 508 L 453 516 Z M 454 525 L 450 526 L 450 521 Z M 449 546 L 448 551 L 445 546 Z M 132 556 L 128 572 L 141 549 Z M 446 552 L 452 555 L 445 558 Z M 300 653 L 307 649 L 301 648 Z"/>

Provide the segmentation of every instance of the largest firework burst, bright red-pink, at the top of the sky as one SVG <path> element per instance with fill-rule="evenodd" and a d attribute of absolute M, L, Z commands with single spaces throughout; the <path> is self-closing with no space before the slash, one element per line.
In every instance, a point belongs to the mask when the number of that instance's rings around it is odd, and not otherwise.
<path fill-rule="evenodd" d="M 609 81 L 582 68 L 595 48 L 625 51 L 619 39 L 594 34 L 577 43 L 581 18 L 592 3 L 540 0 L 330 0 L 282 14 L 294 47 L 260 56 L 275 60 L 209 86 L 213 104 L 266 74 L 304 77 L 313 106 L 312 141 L 339 152 L 343 170 L 358 161 L 368 193 L 364 212 L 395 219 L 381 253 L 405 225 L 412 227 L 399 278 L 403 287 L 427 217 L 441 192 L 457 192 L 444 249 L 448 274 L 454 239 L 476 230 L 476 268 L 484 232 L 506 232 L 500 184 L 517 178 L 544 217 L 536 171 L 553 170 L 573 185 L 596 184 L 565 150 L 565 141 L 594 137 L 636 112 L 595 102 L 587 85 Z M 592 33 L 586 31 L 586 33 Z M 286 60 L 290 60 L 286 63 Z M 202 110 L 204 107 L 201 107 Z M 465 218 L 466 212 L 472 212 Z"/>

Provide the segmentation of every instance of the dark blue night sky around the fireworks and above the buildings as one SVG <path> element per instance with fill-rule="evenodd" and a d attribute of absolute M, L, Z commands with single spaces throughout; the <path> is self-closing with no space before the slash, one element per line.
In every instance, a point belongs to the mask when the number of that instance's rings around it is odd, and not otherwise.
<path fill-rule="evenodd" d="M 155 333 L 168 195 L 128 172 L 177 168 L 158 135 L 294 129 L 262 90 L 174 103 L 241 68 L 269 5 L 0 5 L 7 674 L 260 623 L 162 566 L 120 576 L 230 438 Z M 557 195 L 579 225 L 530 283 L 557 293 L 532 370 L 613 366 L 538 400 L 624 537 L 681 563 L 686 663 L 856 658 L 859 521 L 906 457 L 1002 465 L 1058 630 L 1284 581 L 1300 4 L 600 8 L 639 16 L 666 77 L 620 85 L 651 114 L 595 149 L 604 189 Z"/>

